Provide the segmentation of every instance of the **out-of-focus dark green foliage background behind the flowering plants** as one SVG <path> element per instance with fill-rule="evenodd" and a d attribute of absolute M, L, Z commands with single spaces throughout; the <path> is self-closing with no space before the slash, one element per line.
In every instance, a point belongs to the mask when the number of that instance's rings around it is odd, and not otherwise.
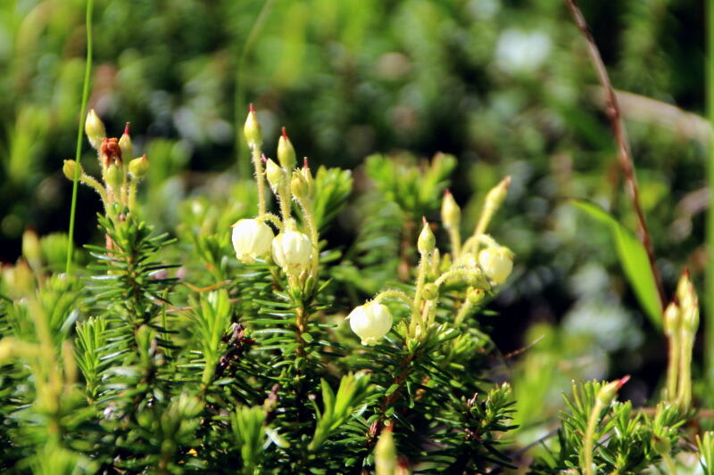
<path fill-rule="evenodd" d="M 623 112 L 665 287 L 685 265 L 701 283 L 703 3 L 580 4 L 615 87 L 629 93 Z M 640 404 L 658 389 L 665 340 L 607 230 L 566 200 L 596 201 L 635 229 L 602 94 L 564 2 L 96 0 L 94 21 L 89 105 L 110 136 L 131 122 L 135 150 L 152 163 L 143 200 L 154 223 L 173 230 L 182 203 L 218 200 L 249 177 L 248 102 L 266 152 L 286 126 L 312 165 L 355 168 L 358 190 L 369 188 L 361 165 L 372 153 L 450 153 L 464 232 L 486 190 L 513 178 L 491 231 L 515 251 L 516 272 L 491 307 L 504 354 L 544 337 L 494 362 L 494 378 L 514 381 L 523 440 L 547 429 L 573 378 L 632 373 L 625 395 Z M 0 4 L 0 262 L 18 258 L 26 227 L 67 229 L 61 168 L 74 156 L 85 46 L 82 0 Z M 83 164 L 96 175 L 86 142 Z M 80 187 L 78 244 L 98 239 L 97 211 Z M 338 218 L 331 245 L 354 242 L 361 213 Z"/>

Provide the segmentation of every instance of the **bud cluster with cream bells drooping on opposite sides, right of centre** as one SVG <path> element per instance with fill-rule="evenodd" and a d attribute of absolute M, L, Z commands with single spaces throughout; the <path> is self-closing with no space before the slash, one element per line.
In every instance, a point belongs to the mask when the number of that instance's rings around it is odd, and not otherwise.
<path fill-rule="evenodd" d="M 363 345 L 377 344 L 392 327 L 393 318 L 382 304 L 383 299 L 400 299 L 411 309 L 411 319 L 404 326 L 404 337 L 420 340 L 427 337 L 436 323 L 436 304 L 444 291 L 451 291 L 452 298 L 460 302 L 459 312 L 453 321 L 454 326 L 459 326 L 481 304 L 486 292 L 506 282 L 513 269 L 513 253 L 484 232 L 504 200 L 510 183 L 510 178 L 506 178 L 488 192 L 476 230 L 463 247 L 461 209 L 450 192 L 444 193 L 442 222 L 449 233 L 452 254 L 441 256 L 431 225 L 423 219 L 417 240 L 419 266 L 413 296 L 403 291 L 382 291 L 372 301 L 354 308 L 347 316 L 350 327 Z"/>

